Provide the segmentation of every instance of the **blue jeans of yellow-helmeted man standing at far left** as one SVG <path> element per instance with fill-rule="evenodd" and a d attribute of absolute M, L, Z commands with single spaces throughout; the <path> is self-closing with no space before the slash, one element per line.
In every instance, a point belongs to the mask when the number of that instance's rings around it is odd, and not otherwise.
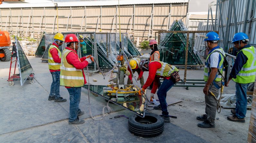
<path fill-rule="evenodd" d="M 54 97 L 55 99 L 60 98 L 60 71 L 51 72 L 52 74 L 52 85 L 50 91 L 50 97 Z"/>

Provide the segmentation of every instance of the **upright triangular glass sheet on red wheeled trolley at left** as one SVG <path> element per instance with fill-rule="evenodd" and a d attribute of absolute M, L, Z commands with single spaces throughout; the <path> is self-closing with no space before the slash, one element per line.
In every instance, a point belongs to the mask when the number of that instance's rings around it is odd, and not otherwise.
<path fill-rule="evenodd" d="M 33 72 L 33 68 L 31 67 L 22 47 L 15 37 L 16 49 L 17 49 L 17 60 L 20 72 L 20 82 L 21 86 L 25 83 L 29 75 Z"/>

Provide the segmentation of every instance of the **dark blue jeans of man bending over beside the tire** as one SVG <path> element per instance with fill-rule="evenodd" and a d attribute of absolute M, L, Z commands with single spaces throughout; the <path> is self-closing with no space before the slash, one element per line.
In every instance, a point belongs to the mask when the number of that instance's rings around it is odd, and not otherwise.
<path fill-rule="evenodd" d="M 174 84 L 175 82 L 172 79 L 165 79 L 157 91 L 157 96 L 162 108 L 162 115 L 165 117 L 169 116 L 166 104 L 166 93 L 173 87 Z"/>

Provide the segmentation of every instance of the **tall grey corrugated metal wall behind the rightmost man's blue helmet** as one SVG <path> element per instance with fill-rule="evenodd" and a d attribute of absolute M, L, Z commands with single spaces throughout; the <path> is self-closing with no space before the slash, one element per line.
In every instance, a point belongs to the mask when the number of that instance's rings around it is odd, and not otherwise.
<path fill-rule="evenodd" d="M 220 31 L 220 46 L 225 51 L 232 47 L 232 37 L 237 32 L 246 33 L 250 38 L 249 44 L 256 46 L 255 0 L 218 0 L 218 2 L 217 30 Z"/>

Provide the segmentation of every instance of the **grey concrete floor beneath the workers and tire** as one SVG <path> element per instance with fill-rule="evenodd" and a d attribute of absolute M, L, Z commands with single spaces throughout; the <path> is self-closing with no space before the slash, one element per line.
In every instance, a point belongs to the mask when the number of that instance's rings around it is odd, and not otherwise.
<path fill-rule="evenodd" d="M 88 111 L 87 90 L 82 89 L 80 108 L 85 114 L 80 118 L 86 122 L 82 125 L 69 125 L 69 94 L 60 88 L 60 94 L 68 101 L 56 103 L 48 101 L 51 74 L 48 64 L 42 63 L 40 58 L 28 57 L 35 73 L 36 81 L 33 84 L 26 82 L 20 86 L 15 81 L 9 86 L 8 78 L 10 62 L 0 62 L 0 142 L 246 142 L 251 111 L 247 110 L 246 123 L 230 122 L 226 119 L 230 109 L 222 109 L 216 114 L 216 127 L 202 129 L 197 127 L 197 115 L 204 114 L 205 103 L 203 88 L 173 87 L 167 96 L 181 99 L 183 102 L 168 106 L 171 123 L 165 123 L 163 134 L 154 138 L 141 138 L 128 131 L 126 118 L 109 119 L 116 115 L 130 116 L 133 113 L 111 104 L 112 112 L 103 120 L 95 121 L 90 118 Z M 148 73 L 144 73 L 145 82 Z M 184 70 L 180 70 L 183 78 Z M 88 78 L 88 77 L 87 77 Z M 91 84 L 105 85 L 109 76 L 103 80 L 102 75 L 95 73 L 90 78 Z M 93 82 L 92 79 L 98 82 Z M 203 68 L 188 70 L 187 79 L 203 79 Z M 127 77 L 126 77 L 127 80 Z M 235 93 L 234 83 L 224 88 L 224 93 Z M 147 94 L 150 94 L 147 92 Z M 102 116 L 102 108 L 106 102 L 101 97 L 90 94 L 92 114 L 97 118 Z M 159 110 L 150 112 L 161 114 Z"/>

